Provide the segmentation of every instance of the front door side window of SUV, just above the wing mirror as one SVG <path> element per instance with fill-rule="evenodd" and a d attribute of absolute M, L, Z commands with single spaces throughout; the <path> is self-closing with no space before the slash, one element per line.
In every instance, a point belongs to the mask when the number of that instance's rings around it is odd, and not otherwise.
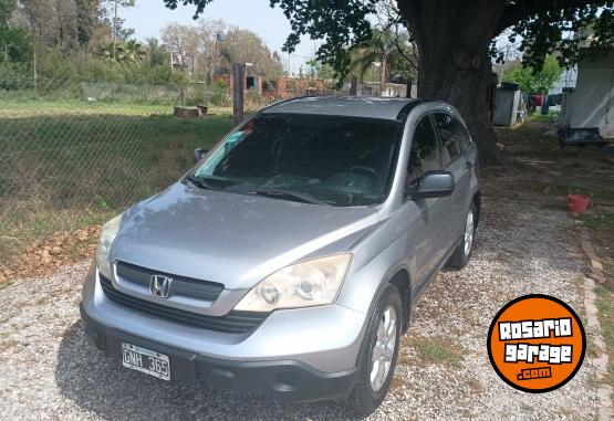
<path fill-rule="evenodd" d="M 430 117 L 426 116 L 416 125 L 416 131 L 412 139 L 412 150 L 407 162 L 407 190 L 417 190 L 426 171 L 439 169 L 441 169 L 439 144 Z"/>

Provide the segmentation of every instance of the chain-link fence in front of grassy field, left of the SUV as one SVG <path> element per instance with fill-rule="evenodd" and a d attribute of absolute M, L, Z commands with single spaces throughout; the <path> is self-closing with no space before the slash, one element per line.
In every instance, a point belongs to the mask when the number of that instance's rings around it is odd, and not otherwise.
<path fill-rule="evenodd" d="M 176 180 L 231 127 L 205 85 L 0 80 L 0 264 Z M 219 99 L 219 98 L 218 98 Z M 202 117 L 175 106 L 209 105 Z"/>

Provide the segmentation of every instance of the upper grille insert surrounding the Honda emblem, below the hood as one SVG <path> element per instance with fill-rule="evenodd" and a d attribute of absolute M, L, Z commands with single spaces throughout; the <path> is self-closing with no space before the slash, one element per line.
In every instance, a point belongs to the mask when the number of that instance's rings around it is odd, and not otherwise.
<path fill-rule="evenodd" d="M 117 262 L 115 265 L 117 276 L 124 282 L 149 288 L 153 275 L 164 275 L 173 278 L 170 293 L 194 299 L 215 302 L 223 290 L 223 285 L 217 282 L 195 280 L 191 277 L 173 275 L 169 273 L 157 272 L 150 269 L 141 267 L 134 264 Z"/>

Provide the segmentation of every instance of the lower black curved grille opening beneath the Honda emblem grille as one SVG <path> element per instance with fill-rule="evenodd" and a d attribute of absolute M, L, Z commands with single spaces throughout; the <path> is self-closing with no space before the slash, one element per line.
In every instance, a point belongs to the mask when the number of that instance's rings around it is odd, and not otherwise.
<path fill-rule="evenodd" d="M 163 319 L 207 330 L 244 334 L 254 329 L 267 317 L 266 313 L 230 312 L 226 316 L 208 316 L 136 298 L 115 290 L 106 277 L 100 275 L 101 286 L 107 298 L 117 304 L 147 313 Z"/>

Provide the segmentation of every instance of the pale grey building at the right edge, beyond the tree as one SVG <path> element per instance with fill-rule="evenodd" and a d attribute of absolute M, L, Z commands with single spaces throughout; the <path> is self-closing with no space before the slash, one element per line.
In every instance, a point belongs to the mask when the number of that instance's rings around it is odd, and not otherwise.
<path fill-rule="evenodd" d="M 596 127 L 602 137 L 614 137 L 614 50 L 581 60 L 575 88 L 564 91 L 560 127 Z"/>

